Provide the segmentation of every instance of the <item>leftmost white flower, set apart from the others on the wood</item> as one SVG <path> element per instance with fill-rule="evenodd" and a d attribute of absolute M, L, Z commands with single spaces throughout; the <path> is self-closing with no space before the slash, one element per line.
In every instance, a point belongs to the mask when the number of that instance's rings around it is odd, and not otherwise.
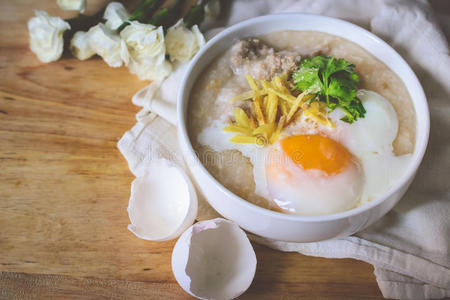
<path fill-rule="evenodd" d="M 45 11 L 36 10 L 28 21 L 30 48 L 40 61 L 51 62 L 61 57 L 64 48 L 64 31 L 69 23 L 59 17 L 51 17 Z"/>

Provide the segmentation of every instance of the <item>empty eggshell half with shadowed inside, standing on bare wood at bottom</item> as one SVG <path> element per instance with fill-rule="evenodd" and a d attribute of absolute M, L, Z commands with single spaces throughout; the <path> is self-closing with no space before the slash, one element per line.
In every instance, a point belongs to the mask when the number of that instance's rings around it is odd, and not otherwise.
<path fill-rule="evenodd" d="M 233 299 L 253 281 L 256 255 L 245 232 L 217 218 L 191 226 L 172 252 L 178 284 L 200 299 Z"/>

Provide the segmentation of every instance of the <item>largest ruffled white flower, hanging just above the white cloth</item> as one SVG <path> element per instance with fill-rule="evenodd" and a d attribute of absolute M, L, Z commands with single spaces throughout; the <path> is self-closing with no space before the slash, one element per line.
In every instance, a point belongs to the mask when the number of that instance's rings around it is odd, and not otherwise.
<path fill-rule="evenodd" d="M 125 27 L 120 36 L 126 43 L 130 62 L 130 72 L 140 80 L 162 81 L 172 71 L 172 65 L 166 60 L 164 31 L 150 24 L 133 21 Z"/>

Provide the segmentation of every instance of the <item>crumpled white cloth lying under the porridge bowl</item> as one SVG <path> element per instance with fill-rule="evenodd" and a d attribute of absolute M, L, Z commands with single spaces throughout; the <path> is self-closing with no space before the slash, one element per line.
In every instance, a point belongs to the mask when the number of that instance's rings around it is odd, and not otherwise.
<path fill-rule="evenodd" d="M 251 238 L 281 251 L 371 263 L 386 298 L 450 297 L 450 56 L 436 16 L 427 2 L 413 0 L 235 0 L 222 25 L 278 12 L 338 17 L 365 27 L 391 44 L 412 66 L 425 89 L 431 135 L 411 188 L 391 212 L 366 230 L 319 243 Z M 449 24 L 444 25 L 450 28 Z M 155 157 L 172 159 L 184 167 L 175 126 L 156 116 L 176 123 L 176 91 L 184 68 L 177 70 L 161 87 L 150 84 L 133 98 L 133 103 L 143 109 L 118 147 L 136 176 Z M 198 219 L 215 216 L 217 213 L 200 199 Z"/>

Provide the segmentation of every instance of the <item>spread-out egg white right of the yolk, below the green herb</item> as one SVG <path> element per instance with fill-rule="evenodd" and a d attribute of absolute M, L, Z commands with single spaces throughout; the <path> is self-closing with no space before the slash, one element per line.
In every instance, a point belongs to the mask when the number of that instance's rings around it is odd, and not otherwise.
<path fill-rule="evenodd" d="M 393 187 L 411 161 L 411 154 L 396 156 L 392 143 L 399 122 L 392 104 L 381 95 L 359 90 L 358 98 L 366 109 L 364 118 L 353 124 L 340 121 L 342 112 L 330 114 L 336 127 L 335 140 L 358 157 L 363 167 L 365 185 L 360 204 L 372 201 Z"/>

